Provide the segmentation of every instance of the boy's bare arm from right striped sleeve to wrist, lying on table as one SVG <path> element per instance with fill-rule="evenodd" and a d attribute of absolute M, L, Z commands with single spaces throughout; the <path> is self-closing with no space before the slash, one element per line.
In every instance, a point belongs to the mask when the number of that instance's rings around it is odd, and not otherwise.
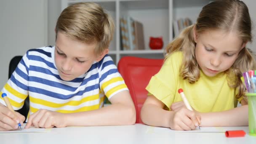
<path fill-rule="evenodd" d="M 116 93 L 111 105 L 93 111 L 67 114 L 67 126 L 133 125 L 136 110 L 129 91 Z"/>

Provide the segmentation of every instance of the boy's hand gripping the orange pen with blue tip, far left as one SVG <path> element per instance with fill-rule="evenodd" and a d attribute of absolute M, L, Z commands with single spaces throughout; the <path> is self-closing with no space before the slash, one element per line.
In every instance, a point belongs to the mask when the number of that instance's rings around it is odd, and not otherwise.
<path fill-rule="evenodd" d="M 16 112 L 16 115 L 5 107 L 3 104 L 0 104 L 0 131 L 10 131 L 18 128 L 18 123 L 23 125 L 25 117 L 19 112 Z"/>

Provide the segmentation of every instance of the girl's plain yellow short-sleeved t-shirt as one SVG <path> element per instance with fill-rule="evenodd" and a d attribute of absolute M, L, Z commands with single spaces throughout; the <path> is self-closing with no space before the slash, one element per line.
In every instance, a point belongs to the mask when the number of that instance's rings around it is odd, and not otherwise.
<path fill-rule="evenodd" d="M 178 89 L 182 88 L 189 104 L 198 112 L 219 112 L 237 106 L 235 89 L 227 83 L 224 72 L 208 77 L 200 70 L 200 78 L 194 84 L 183 80 L 179 75 L 183 53 L 175 52 L 169 56 L 160 71 L 147 85 L 149 95 L 154 95 L 170 110 L 171 104 L 182 101 Z"/>

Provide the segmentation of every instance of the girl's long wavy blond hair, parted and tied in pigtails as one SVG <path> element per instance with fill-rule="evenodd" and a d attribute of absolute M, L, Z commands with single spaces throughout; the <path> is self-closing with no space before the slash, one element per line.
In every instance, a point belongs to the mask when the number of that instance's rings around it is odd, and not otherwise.
<path fill-rule="evenodd" d="M 184 29 L 166 47 L 166 58 L 175 51 L 183 51 L 180 67 L 181 77 L 193 84 L 200 78 L 199 65 L 195 58 L 193 27 L 198 34 L 206 30 L 218 29 L 224 32 L 236 32 L 243 43 L 252 41 L 251 18 L 248 8 L 240 0 L 215 0 L 205 5 L 197 18 L 196 24 Z M 165 58 L 165 59 L 166 59 Z M 229 87 L 235 88 L 236 98 L 245 96 L 245 86 L 241 81 L 243 72 L 256 68 L 255 56 L 249 48 L 243 48 L 232 67 L 226 72 Z"/>

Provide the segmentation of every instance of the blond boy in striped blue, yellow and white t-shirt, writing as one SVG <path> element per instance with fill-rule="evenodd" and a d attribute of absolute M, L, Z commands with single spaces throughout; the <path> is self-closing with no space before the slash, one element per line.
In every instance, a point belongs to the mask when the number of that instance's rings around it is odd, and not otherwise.
<path fill-rule="evenodd" d="M 134 124 L 128 88 L 107 55 L 111 17 L 98 4 L 77 3 L 62 11 L 55 30 L 56 45 L 27 51 L 0 92 L 14 109 L 29 96 L 25 128 Z M 112 104 L 101 108 L 104 96 Z M 1 98 L 0 131 L 22 125 L 25 117 L 3 104 Z"/>

